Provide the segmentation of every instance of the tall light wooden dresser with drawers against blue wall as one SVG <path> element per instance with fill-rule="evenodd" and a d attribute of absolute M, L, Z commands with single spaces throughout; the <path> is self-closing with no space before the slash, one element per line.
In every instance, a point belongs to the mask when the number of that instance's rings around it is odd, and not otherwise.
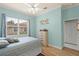
<path fill-rule="evenodd" d="M 40 39 L 43 46 L 48 46 L 48 30 L 40 30 Z"/>

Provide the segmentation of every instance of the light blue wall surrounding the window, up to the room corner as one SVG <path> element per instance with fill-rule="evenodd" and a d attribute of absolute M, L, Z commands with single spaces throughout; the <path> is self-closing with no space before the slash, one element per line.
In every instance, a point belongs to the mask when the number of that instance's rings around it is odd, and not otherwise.
<path fill-rule="evenodd" d="M 11 9 L 5 9 L 5 8 L 0 8 L 0 36 L 1 36 L 1 20 L 2 16 L 1 14 L 5 13 L 7 16 L 10 17 L 15 17 L 19 19 L 25 19 L 25 20 L 30 20 L 30 35 L 35 37 L 36 34 L 36 18 L 34 16 L 27 16 L 23 13 L 20 13 L 18 11 L 14 11 Z"/>

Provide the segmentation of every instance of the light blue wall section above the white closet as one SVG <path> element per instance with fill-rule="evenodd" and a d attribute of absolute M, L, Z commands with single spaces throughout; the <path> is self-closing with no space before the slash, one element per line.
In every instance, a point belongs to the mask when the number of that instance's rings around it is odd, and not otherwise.
<path fill-rule="evenodd" d="M 79 18 L 79 6 L 63 9 L 64 20 Z"/>

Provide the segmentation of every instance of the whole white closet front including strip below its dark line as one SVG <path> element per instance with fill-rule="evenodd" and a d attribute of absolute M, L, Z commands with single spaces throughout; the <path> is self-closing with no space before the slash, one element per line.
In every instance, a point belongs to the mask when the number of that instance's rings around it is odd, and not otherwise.
<path fill-rule="evenodd" d="M 77 20 L 64 23 L 64 35 L 65 46 L 75 48 L 77 46 Z"/>

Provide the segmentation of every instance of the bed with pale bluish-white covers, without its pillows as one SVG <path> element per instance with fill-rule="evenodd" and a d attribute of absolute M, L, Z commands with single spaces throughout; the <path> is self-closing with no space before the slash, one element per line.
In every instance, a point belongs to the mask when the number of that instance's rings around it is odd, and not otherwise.
<path fill-rule="evenodd" d="M 33 37 L 21 37 L 18 39 L 18 43 L 0 49 L 0 56 L 36 56 L 41 53 L 39 39 Z"/>

